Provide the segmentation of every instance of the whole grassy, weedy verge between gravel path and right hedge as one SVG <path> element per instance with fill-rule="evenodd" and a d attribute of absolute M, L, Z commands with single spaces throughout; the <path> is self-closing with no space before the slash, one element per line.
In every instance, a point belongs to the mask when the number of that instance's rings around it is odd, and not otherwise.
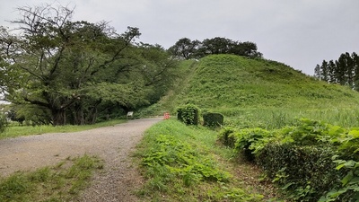
<path fill-rule="evenodd" d="M 236 166 L 237 156 L 232 149 L 216 144 L 216 134 L 206 127 L 187 127 L 175 119 L 147 130 L 136 153 L 147 182 L 137 195 L 144 201 L 275 198 L 273 188 L 253 178 L 259 175 L 253 165 Z"/>

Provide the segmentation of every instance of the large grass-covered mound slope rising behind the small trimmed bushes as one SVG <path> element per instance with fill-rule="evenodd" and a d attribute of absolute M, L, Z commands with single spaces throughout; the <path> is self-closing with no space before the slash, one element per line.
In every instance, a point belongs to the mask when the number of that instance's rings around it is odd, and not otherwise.
<path fill-rule="evenodd" d="M 193 63 L 189 79 L 167 98 L 167 110 L 192 103 L 203 111 L 221 112 L 227 124 L 241 127 L 282 127 L 302 117 L 358 125 L 359 93 L 346 86 L 317 81 L 265 59 L 212 55 Z"/>

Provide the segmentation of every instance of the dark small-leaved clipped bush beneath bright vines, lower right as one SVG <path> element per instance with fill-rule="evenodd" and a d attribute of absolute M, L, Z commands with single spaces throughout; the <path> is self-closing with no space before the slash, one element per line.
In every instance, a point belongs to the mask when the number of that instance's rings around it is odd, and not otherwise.
<path fill-rule="evenodd" d="M 344 176 L 335 169 L 335 154 L 333 147 L 270 143 L 257 154 L 256 162 L 296 200 L 318 201 Z"/>

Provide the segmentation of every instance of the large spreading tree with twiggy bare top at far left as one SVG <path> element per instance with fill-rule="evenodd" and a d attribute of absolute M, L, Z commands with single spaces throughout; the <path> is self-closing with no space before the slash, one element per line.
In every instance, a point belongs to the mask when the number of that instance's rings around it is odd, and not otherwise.
<path fill-rule="evenodd" d="M 131 41 L 140 35 L 131 27 L 118 34 L 106 22 L 73 22 L 74 11 L 64 6 L 18 10 L 22 19 L 13 23 L 21 32 L 3 34 L 1 50 L 9 61 L 6 72 L 18 73 L 24 82 L 9 89 L 7 99 L 48 110 L 54 125 L 66 124 L 66 110 L 86 97 L 89 88 L 96 91 L 97 75 L 124 58 Z"/>

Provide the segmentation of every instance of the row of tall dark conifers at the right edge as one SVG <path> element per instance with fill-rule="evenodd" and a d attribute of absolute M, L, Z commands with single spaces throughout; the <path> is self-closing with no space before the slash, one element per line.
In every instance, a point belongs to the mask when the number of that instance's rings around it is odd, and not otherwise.
<path fill-rule="evenodd" d="M 314 77 L 328 83 L 348 85 L 359 91 L 359 57 L 355 52 L 346 52 L 335 61 L 323 60 L 321 65 L 315 66 Z"/>

